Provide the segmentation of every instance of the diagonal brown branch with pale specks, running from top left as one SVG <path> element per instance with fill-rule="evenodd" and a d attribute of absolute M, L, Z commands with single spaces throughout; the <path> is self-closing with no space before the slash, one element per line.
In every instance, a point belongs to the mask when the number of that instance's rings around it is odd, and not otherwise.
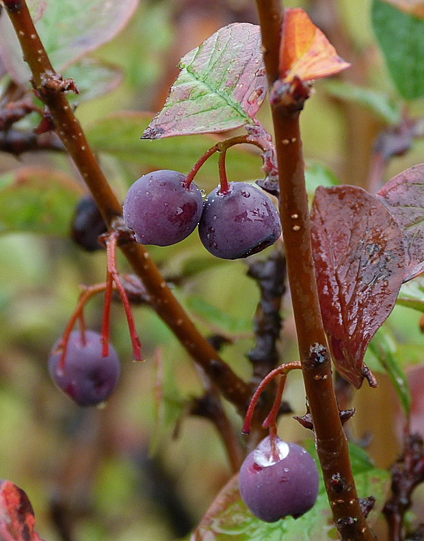
<path fill-rule="evenodd" d="M 34 90 L 48 107 L 57 134 L 90 189 L 109 230 L 122 226 L 121 204 L 107 183 L 85 139 L 81 125 L 62 92 L 72 88 L 72 84 L 70 81 L 62 81 L 62 77 L 53 70 L 34 23 L 31 21 L 25 0 L 3 0 L 3 4 L 21 42 L 23 57 L 31 69 Z M 209 375 L 224 397 L 244 414 L 251 395 L 250 386 L 226 365 L 215 349 L 198 332 L 182 306 L 172 295 L 144 246 L 131 242 L 120 248 L 135 274 L 142 279 L 157 314 L 168 324 L 187 352 Z"/>

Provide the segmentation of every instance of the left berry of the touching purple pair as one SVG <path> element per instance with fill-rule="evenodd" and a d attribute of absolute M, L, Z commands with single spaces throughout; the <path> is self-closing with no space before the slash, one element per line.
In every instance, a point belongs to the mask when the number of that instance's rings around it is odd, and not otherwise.
<path fill-rule="evenodd" d="M 124 220 L 142 244 L 169 246 L 196 228 L 202 214 L 202 194 L 176 171 L 153 171 L 130 187 L 124 201 Z"/>

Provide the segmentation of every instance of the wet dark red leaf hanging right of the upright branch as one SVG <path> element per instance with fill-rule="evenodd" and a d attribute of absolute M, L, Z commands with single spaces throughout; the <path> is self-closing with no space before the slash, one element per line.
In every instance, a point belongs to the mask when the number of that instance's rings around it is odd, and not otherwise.
<path fill-rule="evenodd" d="M 319 187 L 311 215 L 323 324 L 337 371 L 356 388 L 369 341 L 395 306 L 406 254 L 395 217 L 355 186 Z"/>

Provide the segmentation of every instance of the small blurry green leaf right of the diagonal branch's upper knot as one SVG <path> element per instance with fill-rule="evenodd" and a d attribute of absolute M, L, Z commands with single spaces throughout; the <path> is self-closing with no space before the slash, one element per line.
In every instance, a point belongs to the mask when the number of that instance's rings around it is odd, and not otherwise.
<path fill-rule="evenodd" d="M 79 90 L 78 95 L 68 94 L 68 100 L 81 103 L 114 90 L 122 82 L 123 74 L 119 66 L 85 57 L 65 70 L 63 76 L 74 79 Z"/>

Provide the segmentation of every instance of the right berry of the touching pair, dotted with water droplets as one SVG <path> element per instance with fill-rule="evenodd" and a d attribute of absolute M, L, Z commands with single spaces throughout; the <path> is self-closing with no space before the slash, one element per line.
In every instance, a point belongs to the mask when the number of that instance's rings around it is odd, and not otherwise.
<path fill-rule="evenodd" d="M 274 244 L 281 235 L 274 204 L 258 188 L 229 183 L 229 192 L 216 188 L 207 196 L 199 223 L 204 248 L 222 259 L 239 259 Z"/>

